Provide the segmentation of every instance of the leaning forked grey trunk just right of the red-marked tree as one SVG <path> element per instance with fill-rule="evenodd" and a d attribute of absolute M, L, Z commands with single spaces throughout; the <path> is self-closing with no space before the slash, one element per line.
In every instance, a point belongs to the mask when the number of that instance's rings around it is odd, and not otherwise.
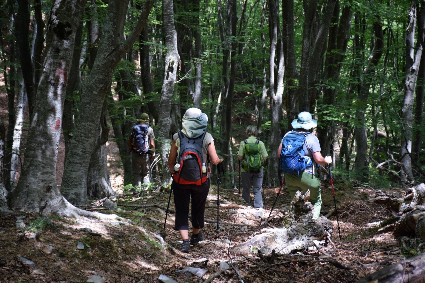
<path fill-rule="evenodd" d="M 73 204 L 88 203 L 88 166 L 96 142 L 102 105 L 108 93 L 113 71 L 139 36 L 153 6 L 153 0 L 145 2 L 138 22 L 127 40 L 122 41 L 127 4 L 128 0 L 116 0 L 109 3 L 96 59 L 82 87 L 79 118 L 68 152 L 68 156 L 72 157 L 65 159 L 62 178 L 62 193 Z"/>

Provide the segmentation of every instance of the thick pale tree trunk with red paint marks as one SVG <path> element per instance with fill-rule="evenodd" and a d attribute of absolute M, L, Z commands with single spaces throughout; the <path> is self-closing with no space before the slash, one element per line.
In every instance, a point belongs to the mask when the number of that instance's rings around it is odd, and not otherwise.
<path fill-rule="evenodd" d="M 56 161 L 66 77 L 85 3 L 57 0 L 53 5 L 35 115 L 28 133 L 31 142 L 27 144 L 17 187 L 11 193 L 11 206 L 16 210 L 54 212 L 66 206 L 57 188 Z"/>

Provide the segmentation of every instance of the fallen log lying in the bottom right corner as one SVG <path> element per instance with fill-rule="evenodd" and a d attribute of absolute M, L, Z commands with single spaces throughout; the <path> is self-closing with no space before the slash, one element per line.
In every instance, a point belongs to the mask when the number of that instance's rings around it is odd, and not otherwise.
<path fill-rule="evenodd" d="M 401 260 L 369 274 L 356 283 L 423 282 L 425 278 L 425 253 Z"/>

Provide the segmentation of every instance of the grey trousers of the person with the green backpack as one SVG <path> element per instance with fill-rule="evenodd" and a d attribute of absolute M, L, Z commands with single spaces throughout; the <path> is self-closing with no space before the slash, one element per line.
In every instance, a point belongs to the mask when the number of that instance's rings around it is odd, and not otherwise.
<path fill-rule="evenodd" d="M 254 194 L 254 207 L 263 207 L 263 197 L 261 196 L 261 186 L 263 185 L 263 169 L 259 173 L 242 172 L 242 198 L 251 204 L 251 184 L 252 193 Z"/>

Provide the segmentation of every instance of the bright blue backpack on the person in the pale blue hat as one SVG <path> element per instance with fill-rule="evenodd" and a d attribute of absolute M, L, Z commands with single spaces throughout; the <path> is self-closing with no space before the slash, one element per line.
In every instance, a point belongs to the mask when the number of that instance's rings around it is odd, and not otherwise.
<path fill-rule="evenodd" d="M 283 173 L 298 174 L 307 167 L 313 166 L 313 160 L 305 156 L 303 145 L 306 136 L 311 133 L 297 133 L 292 130 L 282 140 L 282 151 L 280 152 L 280 169 Z"/>

